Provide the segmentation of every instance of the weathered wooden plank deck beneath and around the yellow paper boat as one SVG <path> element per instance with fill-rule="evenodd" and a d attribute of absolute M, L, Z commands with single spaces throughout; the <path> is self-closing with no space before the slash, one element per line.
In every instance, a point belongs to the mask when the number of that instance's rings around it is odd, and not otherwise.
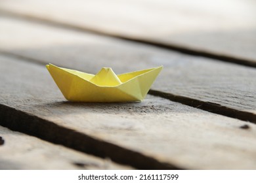
<path fill-rule="evenodd" d="M 2 0 L 0 169 L 256 169 L 255 6 Z M 163 71 L 142 103 L 74 103 L 47 63 Z"/>

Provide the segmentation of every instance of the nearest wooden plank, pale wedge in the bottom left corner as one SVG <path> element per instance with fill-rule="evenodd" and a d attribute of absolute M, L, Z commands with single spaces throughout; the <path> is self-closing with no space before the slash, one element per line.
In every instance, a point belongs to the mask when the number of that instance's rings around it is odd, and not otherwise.
<path fill-rule="evenodd" d="M 0 126 L 0 169 L 131 169 Z"/>

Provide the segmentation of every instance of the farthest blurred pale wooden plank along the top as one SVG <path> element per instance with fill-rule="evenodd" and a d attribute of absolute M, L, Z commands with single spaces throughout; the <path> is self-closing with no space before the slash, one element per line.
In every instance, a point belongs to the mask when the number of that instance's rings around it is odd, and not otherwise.
<path fill-rule="evenodd" d="M 4 0 L 0 9 L 255 66 L 255 6 L 250 0 Z"/>

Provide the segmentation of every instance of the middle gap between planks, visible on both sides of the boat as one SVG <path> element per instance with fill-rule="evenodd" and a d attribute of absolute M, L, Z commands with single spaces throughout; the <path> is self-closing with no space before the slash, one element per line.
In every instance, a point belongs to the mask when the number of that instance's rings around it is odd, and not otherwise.
<path fill-rule="evenodd" d="M 0 50 L 0 54 L 3 54 L 5 56 L 9 56 L 12 58 L 18 58 L 22 61 L 26 61 L 29 63 L 34 63 L 37 65 L 47 65 L 48 62 L 43 61 L 43 60 L 37 60 L 33 58 L 28 58 L 26 56 L 20 56 L 18 54 L 13 54 L 11 52 L 5 52 Z M 60 67 L 65 67 L 64 65 L 59 65 Z M 207 101 L 200 101 L 198 99 L 192 99 L 189 97 L 184 97 L 181 95 L 174 95 L 172 93 L 165 93 L 165 92 L 160 92 L 158 90 L 150 90 L 148 92 L 150 95 L 162 97 L 165 99 L 169 99 L 170 101 L 174 101 L 177 103 L 182 103 L 183 105 L 188 105 L 190 107 L 194 108 L 200 108 L 201 110 L 206 110 L 207 112 L 215 113 L 215 114 L 221 114 L 223 116 L 228 116 L 230 118 L 236 118 L 238 120 L 242 120 L 245 122 L 251 122 L 252 124 L 256 124 L 256 114 L 253 114 L 251 112 L 245 112 L 241 110 L 237 110 L 234 108 L 229 108 L 229 107 L 224 107 L 222 105 L 219 105 L 217 103 L 211 103 Z"/>

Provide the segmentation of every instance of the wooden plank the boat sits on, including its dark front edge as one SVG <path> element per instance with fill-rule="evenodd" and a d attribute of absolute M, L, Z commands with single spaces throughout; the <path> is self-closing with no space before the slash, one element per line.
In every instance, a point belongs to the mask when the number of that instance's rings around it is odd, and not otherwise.
<path fill-rule="evenodd" d="M 0 63 L 0 125 L 144 169 L 256 168 L 253 124 L 150 95 L 72 103 L 44 67 L 5 56 Z"/>

